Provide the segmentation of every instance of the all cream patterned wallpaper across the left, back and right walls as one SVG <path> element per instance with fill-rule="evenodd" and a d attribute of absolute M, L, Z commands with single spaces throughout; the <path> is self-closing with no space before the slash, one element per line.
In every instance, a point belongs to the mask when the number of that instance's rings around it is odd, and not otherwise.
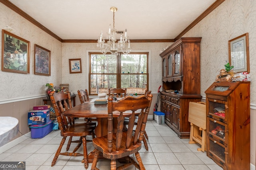
<path fill-rule="evenodd" d="M 1 71 L 0 102 L 6 99 L 43 95 L 46 83 L 70 84 L 70 90 L 88 88 L 88 52 L 96 51 L 96 43 L 60 43 L 40 28 L 0 4 L 0 28 L 12 27 L 14 33 L 30 41 L 30 74 Z M 256 2 L 226 0 L 183 37 L 202 37 L 201 95 L 214 82 L 219 70 L 228 61 L 228 40 L 249 33 L 251 104 L 256 106 Z M 2 37 L 2 36 L 1 36 Z M 0 39 L 2 44 L 2 38 Z M 34 74 L 34 44 L 51 51 L 51 76 Z M 150 89 L 156 92 L 161 85 L 159 54 L 171 43 L 132 43 L 133 51 L 150 51 Z M 0 49 L 2 53 L 2 48 Z M 81 58 L 82 73 L 69 74 L 68 59 Z M 0 61 L 2 62 L 2 61 Z"/>

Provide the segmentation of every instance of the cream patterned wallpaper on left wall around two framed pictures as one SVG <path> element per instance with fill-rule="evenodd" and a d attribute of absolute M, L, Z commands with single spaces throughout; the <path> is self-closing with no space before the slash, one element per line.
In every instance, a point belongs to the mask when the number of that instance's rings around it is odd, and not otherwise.
<path fill-rule="evenodd" d="M 1 70 L 0 102 L 44 95 L 46 83 L 60 84 L 62 79 L 61 42 L 0 3 L 0 54 L 2 54 L 2 29 L 6 26 L 12 28 L 9 32 L 30 41 L 30 74 Z M 51 51 L 51 76 L 34 74 L 34 44 Z M 2 65 L 2 60 L 0 63 Z"/>

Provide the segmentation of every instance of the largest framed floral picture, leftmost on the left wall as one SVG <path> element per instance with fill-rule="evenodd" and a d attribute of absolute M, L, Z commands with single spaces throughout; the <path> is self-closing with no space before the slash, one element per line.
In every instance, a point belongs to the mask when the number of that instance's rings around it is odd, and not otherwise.
<path fill-rule="evenodd" d="M 29 73 L 30 42 L 2 29 L 2 70 Z"/>

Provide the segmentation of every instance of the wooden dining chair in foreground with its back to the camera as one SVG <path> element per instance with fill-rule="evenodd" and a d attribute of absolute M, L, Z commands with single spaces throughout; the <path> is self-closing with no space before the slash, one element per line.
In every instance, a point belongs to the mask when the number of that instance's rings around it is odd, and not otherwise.
<path fill-rule="evenodd" d="M 108 98 L 108 135 L 96 137 L 92 140 L 95 147 L 94 160 L 91 170 L 96 168 L 100 152 L 104 158 L 110 159 L 111 170 L 116 170 L 116 159 L 123 158 L 126 164 L 122 164 L 118 169 L 126 169 L 128 166 L 135 165 L 140 170 L 145 170 L 142 163 L 139 150 L 141 149 L 141 141 L 144 135 L 148 112 L 152 102 L 152 94 L 146 96 L 126 98 L 113 102 L 113 97 Z M 131 113 L 127 131 L 123 131 L 124 115 L 129 111 Z M 135 131 L 133 130 L 134 121 L 138 111 L 138 123 Z M 113 113 L 120 113 L 117 118 L 117 128 L 113 128 Z M 136 160 L 129 155 L 135 154 Z"/>

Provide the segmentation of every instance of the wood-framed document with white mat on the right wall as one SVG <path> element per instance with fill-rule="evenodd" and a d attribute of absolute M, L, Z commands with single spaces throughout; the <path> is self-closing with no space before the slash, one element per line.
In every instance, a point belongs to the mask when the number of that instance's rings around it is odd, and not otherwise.
<path fill-rule="evenodd" d="M 228 41 L 228 57 L 235 72 L 250 72 L 248 33 Z"/>

